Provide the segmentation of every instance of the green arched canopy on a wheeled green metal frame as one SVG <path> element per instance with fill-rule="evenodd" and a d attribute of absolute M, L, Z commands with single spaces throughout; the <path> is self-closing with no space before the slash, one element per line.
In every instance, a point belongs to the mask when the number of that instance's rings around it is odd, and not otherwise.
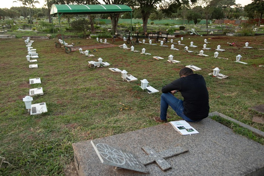
<path fill-rule="evenodd" d="M 71 4 L 54 4 L 51 6 L 51 15 L 52 18 L 57 14 L 60 24 L 60 17 L 63 14 L 112 14 L 112 13 L 123 13 L 123 12 L 130 12 L 131 15 L 131 25 L 132 27 L 132 9 L 127 5 L 115 5 L 115 4 L 107 4 L 107 5 L 87 5 L 87 4 L 81 4 L 81 5 L 71 5 Z M 53 20 L 52 21 L 52 28 L 53 28 Z M 130 29 L 130 31 L 132 31 Z M 64 43 L 61 26 L 60 26 L 60 32 L 62 41 Z M 53 32 L 54 33 L 54 32 Z M 55 39 L 55 34 L 54 34 Z M 55 41 L 55 47 L 60 48 L 61 44 L 57 43 Z M 71 48 L 64 46 L 65 52 L 70 53 Z"/>

